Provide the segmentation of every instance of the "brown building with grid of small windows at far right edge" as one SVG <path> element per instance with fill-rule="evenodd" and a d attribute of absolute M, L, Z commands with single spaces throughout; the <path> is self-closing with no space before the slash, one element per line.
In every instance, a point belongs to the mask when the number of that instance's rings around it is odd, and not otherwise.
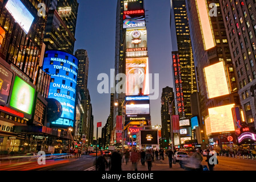
<path fill-rule="evenodd" d="M 256 127 L 255 101 L 251 97 L 256 83 L 256 9 L 255 1 L 220 1 L 227 42 L 234 64 L 238 94 L 241 101 L 245 121 Z M 251 90 L 252 88 L 252 90 Z"/>

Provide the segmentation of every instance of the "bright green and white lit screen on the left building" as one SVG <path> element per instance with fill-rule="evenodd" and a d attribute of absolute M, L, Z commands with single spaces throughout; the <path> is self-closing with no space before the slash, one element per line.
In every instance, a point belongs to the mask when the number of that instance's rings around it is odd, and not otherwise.
<path fill-rule="evenodd" d="M 35 88 L 15 76 L 13 90 L 11 93 L 10 106 L 23 113 L 32 114 L 33 102 L 35 97 Z"/>

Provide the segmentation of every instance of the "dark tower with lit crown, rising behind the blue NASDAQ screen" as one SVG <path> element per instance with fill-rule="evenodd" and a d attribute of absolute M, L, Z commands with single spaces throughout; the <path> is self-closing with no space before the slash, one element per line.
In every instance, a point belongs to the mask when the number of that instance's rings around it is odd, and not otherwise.
<path fill-rule="evenodd" d="M 51 0 L 43 42 L 46 49 L 74 53 L 77 0 Z"/>

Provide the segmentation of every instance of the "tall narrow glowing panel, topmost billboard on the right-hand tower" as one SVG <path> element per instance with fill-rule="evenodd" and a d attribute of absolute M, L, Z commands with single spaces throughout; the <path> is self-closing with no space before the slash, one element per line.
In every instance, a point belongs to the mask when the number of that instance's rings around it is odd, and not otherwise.
<path fill-rule="evenodd" d="M 199 23 L 205 50 L 215 47 L 213 30 L 205 0 L 196 0 Z"/>

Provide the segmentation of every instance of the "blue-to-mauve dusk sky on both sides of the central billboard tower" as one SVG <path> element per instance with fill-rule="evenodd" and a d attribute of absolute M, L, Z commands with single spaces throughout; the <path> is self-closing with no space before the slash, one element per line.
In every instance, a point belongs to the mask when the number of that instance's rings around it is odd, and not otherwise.
<path fill-rule="evenodd" d="M 149 51 L 149 73 L 159 73 L 158 100 L 150 100 L 152 125 L 161 125 L 162 88 L 173 87 L 171 71 L 170 0 L 145 0 L 147 17 L 147 40 Z M 78 0 L 79 10 L 75 33 L 75 51 L 86 49 L 89 55 L 89 80 L 91 104 L 94 115 L 94 136 L 96 123 L 105 126 L 110 114 L 110 93 L 99 94 L 97 77 L 106 73 L 115 63 L 115 15 L 117 0 Z M 109 86 L 110 88 L 110 86 Z M 154 87 L 153 87 L 154 88 Z M 98 137 L 101 137 L 101 127 Z"/>

